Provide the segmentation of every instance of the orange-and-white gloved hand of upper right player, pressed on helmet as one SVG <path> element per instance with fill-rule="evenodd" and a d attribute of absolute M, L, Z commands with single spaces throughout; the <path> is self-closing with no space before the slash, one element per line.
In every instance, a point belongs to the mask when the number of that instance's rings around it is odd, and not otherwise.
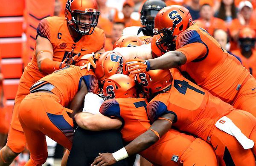
<path fill-rule="evenodd" d="M 142 59 L 127 60 L 125 64 L 130 74 L 139 74 L 150 70 L 150 63 Z"/>

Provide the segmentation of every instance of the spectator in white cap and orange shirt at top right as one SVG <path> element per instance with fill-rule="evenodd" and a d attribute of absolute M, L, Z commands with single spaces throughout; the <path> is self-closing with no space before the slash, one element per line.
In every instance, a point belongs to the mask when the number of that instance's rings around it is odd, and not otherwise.
<path fill-rule="evenodd" d="M 250 27 L 256 30 L 256 20 L 252 17 L 253 5 L 248 0 L 243 0 L 239 3 L 238 10 L 238 17 L 234 19 L 229 26 L 232 40 L 230 50 L 238 49 L 237 40 L 239 38 L 239 30 L 244 27 Z"/>

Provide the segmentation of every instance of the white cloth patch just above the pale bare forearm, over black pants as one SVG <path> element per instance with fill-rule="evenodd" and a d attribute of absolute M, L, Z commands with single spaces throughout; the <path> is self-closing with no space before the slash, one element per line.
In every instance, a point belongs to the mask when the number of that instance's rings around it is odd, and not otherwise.
<path fill-rule="evenodd" d="M 99 114 L 99 108 L 104 102 L 103 98 L 99 94 L 87 93 L 84 97 L 84 108 L 83 112 L 91 114 Z"/>

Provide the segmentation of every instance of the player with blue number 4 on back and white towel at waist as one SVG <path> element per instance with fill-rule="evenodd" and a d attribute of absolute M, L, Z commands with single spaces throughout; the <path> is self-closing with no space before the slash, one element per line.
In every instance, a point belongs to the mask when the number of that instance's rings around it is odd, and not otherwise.
<path fill-rule="evenodd" d="M 161 79 L 163 75 L 171 77 L 171 81 Z M 215 149 L 221 166 L 255 165 L 256 117 L 252 114 L 234 109 L 184 78 L 177 69 L 172 69 L 172 73 L 169 69 L 143 72 L 137 75 L 137 81 L 148 98 L 154 97 L 147 106 L 147 115 L 153 124 L 163 120 L 169 127 L 207 141 Z M 164 134 L 163 129 L 162 126 L 154 128 L 155 135 Z M 148 137 L 147 132 L 125 146 L 127 153 L 143 150 L 139 144 L 145 137 Z M 110 154 L 98 158 L 105 162 L 106 157 L 111 159 Z"/>

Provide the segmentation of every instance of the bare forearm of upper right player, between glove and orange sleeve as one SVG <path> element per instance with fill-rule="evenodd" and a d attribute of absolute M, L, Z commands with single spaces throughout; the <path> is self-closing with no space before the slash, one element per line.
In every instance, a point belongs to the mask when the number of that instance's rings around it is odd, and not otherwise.
<path fill-rule="evenodd" d="M 180 52 L 170 51 L 166 52 L 160 57 L 148 60 L 150 69 L 172 69 L 186 63 L 186 57 Z"/>

